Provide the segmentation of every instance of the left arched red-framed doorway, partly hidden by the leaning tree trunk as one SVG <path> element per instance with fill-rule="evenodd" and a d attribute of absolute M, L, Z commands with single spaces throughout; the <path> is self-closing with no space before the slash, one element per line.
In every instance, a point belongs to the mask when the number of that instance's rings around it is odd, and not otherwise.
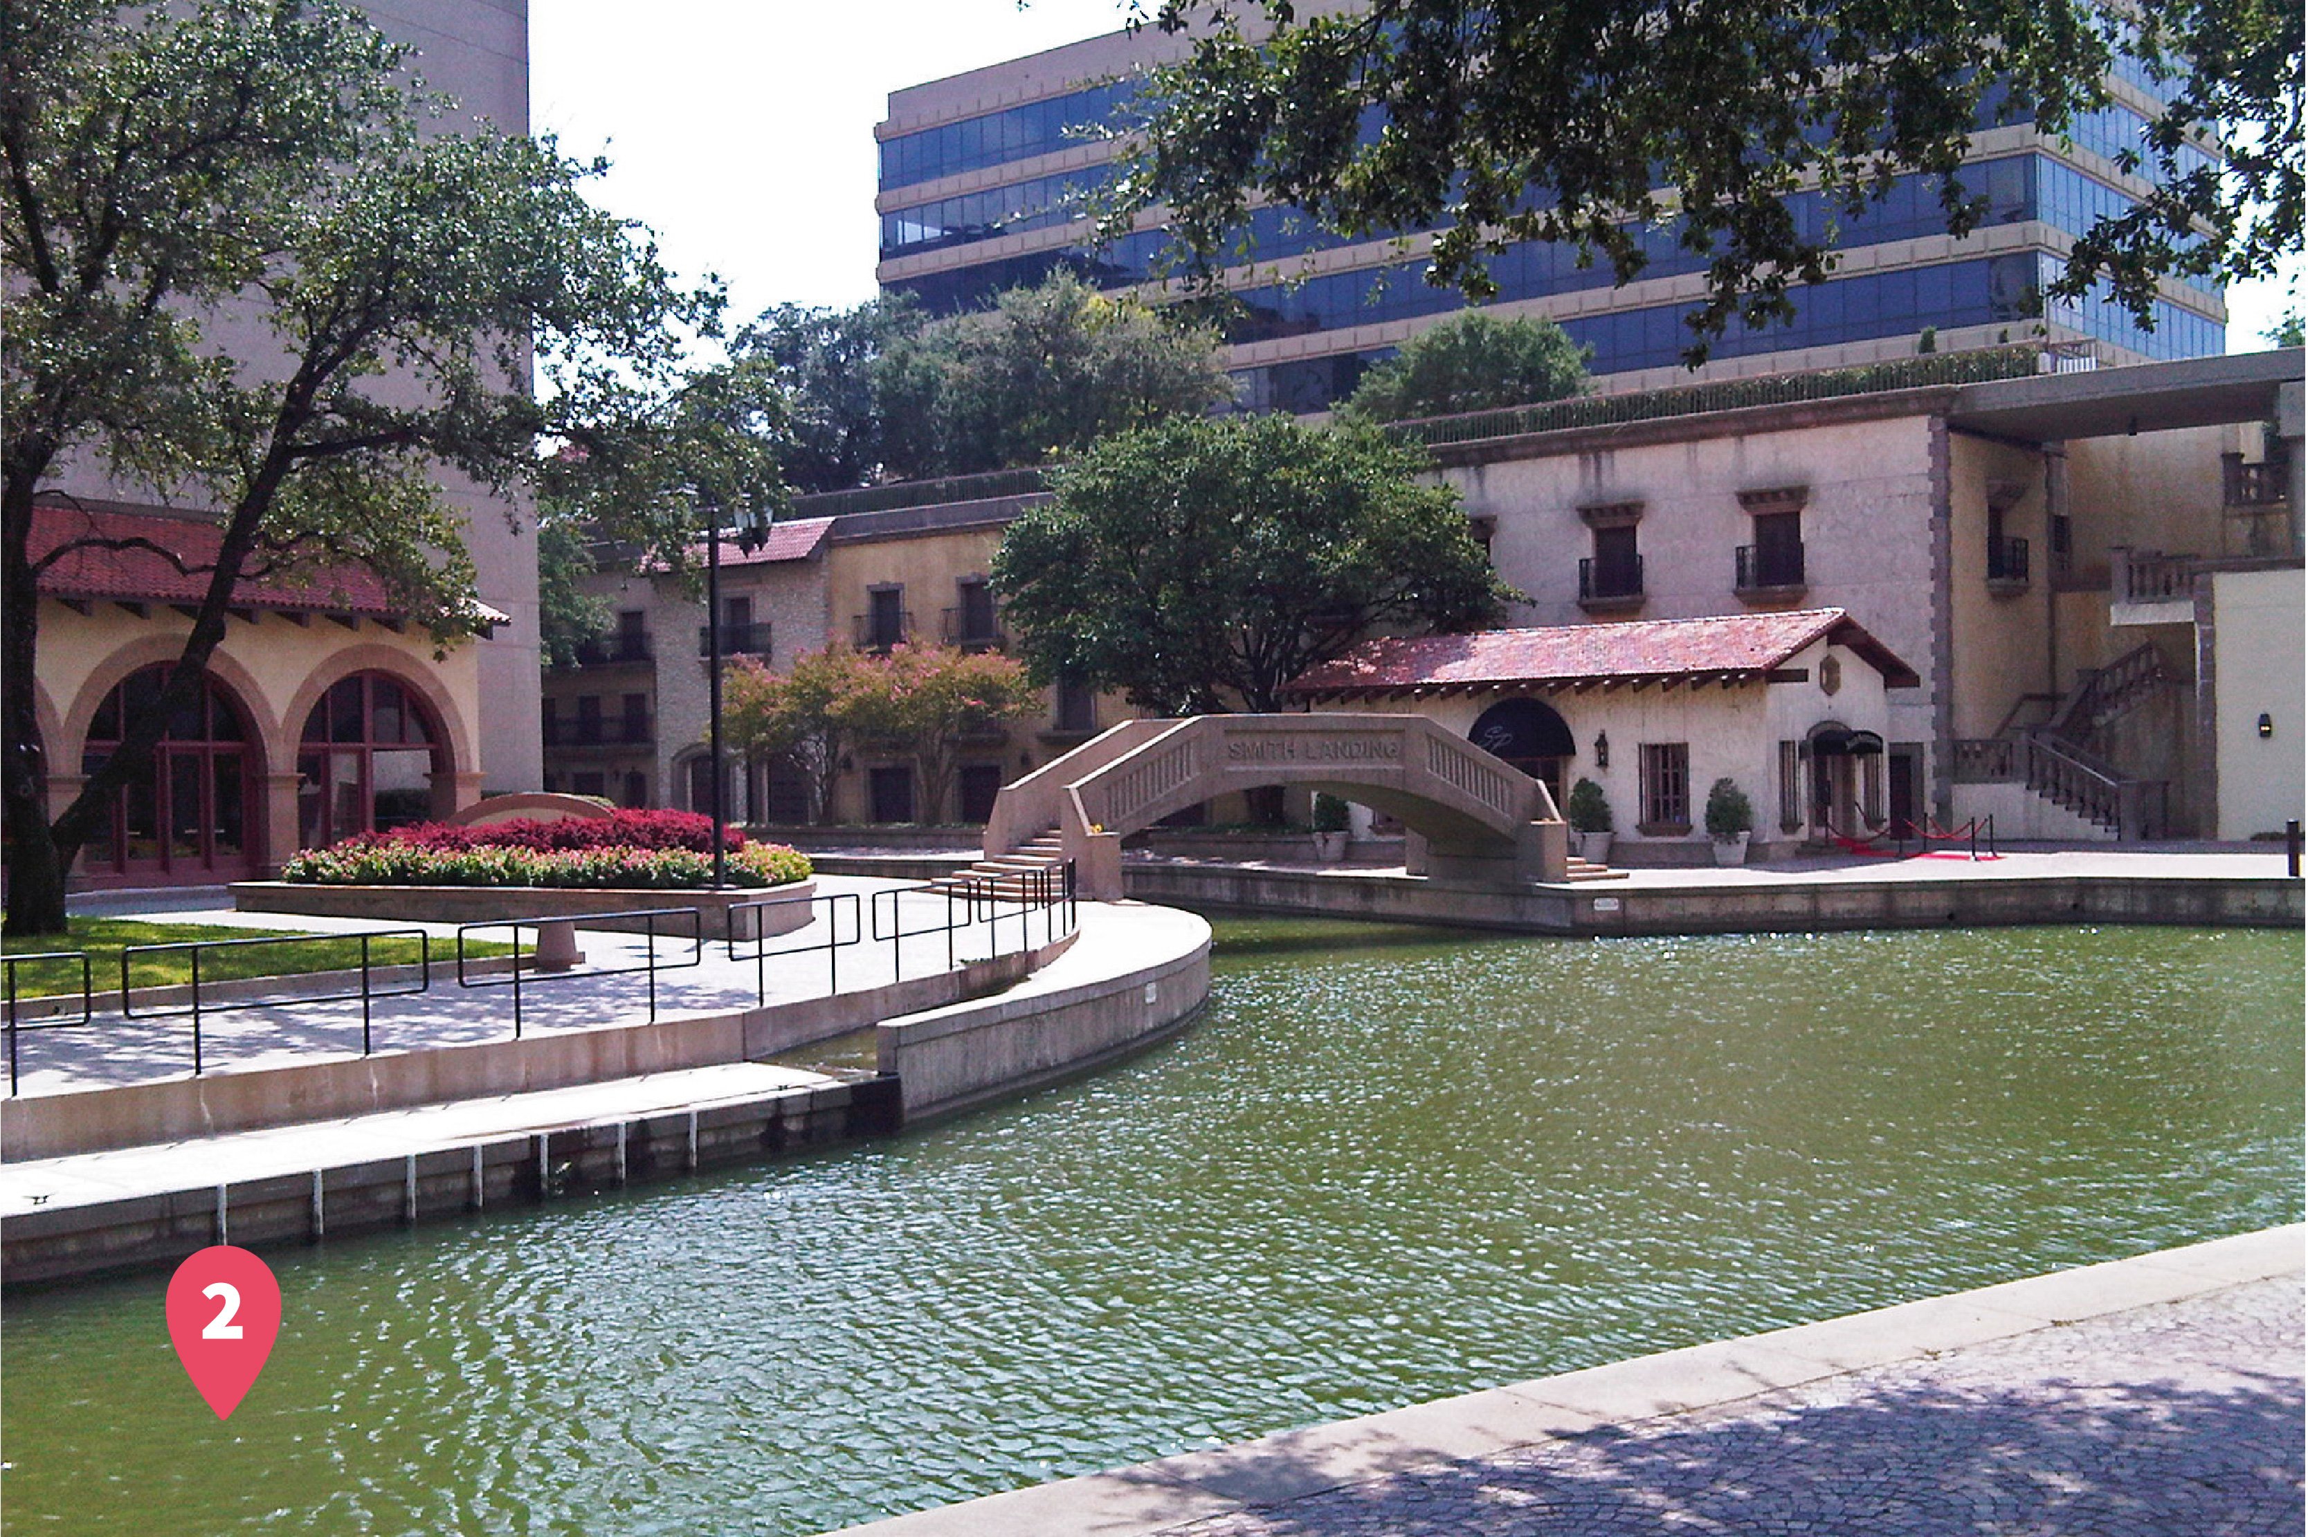
<path fill-rule="evenodd" d="M 88 722 L 81 773 L 97 773 L 129 720 L 159 708 L 168 665 L 120 681 Z M 240 879 L 256 863 L 256 780 L 263 771 L 247 713 L 215 676 L 168 715 L 152 764 L 113 796 L 111 815 L 83 845 L 81 872 L 97 884 L 134 879 Z"/>

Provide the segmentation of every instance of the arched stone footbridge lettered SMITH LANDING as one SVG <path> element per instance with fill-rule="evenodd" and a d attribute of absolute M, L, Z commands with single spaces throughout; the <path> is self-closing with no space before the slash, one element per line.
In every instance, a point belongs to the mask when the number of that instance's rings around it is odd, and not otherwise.
<path fill-rule="evenodd" d="M 1267 785 L 1396 817 L 1440 879 L 1521 886 L 1567 872 L 1567 829 L 1546 785 L 1424 715 L 1126 720 L 1006 785 L 986 822 L 986 856 L 1055 831 L 1082 895 L 1115 900 L 1129 833 Z"/>

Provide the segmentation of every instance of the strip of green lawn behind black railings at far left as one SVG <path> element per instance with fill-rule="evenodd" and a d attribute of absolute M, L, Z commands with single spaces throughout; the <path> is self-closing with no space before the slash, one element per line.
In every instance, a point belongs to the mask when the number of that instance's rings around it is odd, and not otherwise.
<path fill-rule="evenodd" d="M 302 930 L 293 928 L 228 928 L 222 923 L 136 923 L 127 919 L 72 919 L 72 937 L 48 935 L 46 939 L 5 939 L 0 951 L 9 955 L 37 955 L 42 951 L 88 951 L 95 967 L 97 992 L 120 990 L 120 951 L 132 944 L 182 944 L 187 939 L 291 939 Z M 434 960 L 455 962 L 455 939 L 434 939 Z M 466 944 L 466 955 L 510 955 L 508 944 Z M 369 965 L 406 965 L 418 960 L 418 942 L 372 939 Z M 307 972 L 349 972 L 360 965 L 360 939 L 325 939 L 314 944 L 245 944 L 228 951 L 205 951 L 201 955 L 201 981 L 231 981 L 240 976 L 302 976 Z M 168 955 L 138 955 L 129 962 L 129 985 L 164 988 L 192 981 L 192 955 L 175 951 Z M 44 992 L 78 992 L 81 962 L 32 962 L 16 967 L 16 997 L 39 997 Z"/>

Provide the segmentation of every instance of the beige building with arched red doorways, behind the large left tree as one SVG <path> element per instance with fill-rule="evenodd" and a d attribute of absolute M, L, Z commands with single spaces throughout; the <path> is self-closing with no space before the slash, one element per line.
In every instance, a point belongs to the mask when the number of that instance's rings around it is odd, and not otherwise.
<path fill-rule="evenodd" d="M 413 69 L 459 106 L 439 127 L 529 132 L 526 0 L 392 0 L 365 7 L 415 48 Z M 252 367 L 277 346 L 249 307 L 205 316 L 212 342 Z M 535 789 L 538 563 L 531 510 L 443 475 L 464 515 L 487 616 L 475 639 L 436 648 L 392 612 L 365 570 L 233 591 L 201 708 L 171 722 L 148 775 L 129 785 L 74 884 L 205 884 L 279 865 L 300 845 Z M 35 708 L 51 815 L 118 738 L 125 711 L 157 690 L 192 628 L 212 558 L 210 510 L 60 466 L 37 498 L 32 556 L 102 531 L 152 549 L 81 549 L 42 572 Z M 159 554 L 168 552 L 168 554 Z M 439 651 L 439 655 L 436 655 Z M 482 711 L 487 702 L 487 711 Z M 487 725 L 482 725 L 487 713 Z"/>

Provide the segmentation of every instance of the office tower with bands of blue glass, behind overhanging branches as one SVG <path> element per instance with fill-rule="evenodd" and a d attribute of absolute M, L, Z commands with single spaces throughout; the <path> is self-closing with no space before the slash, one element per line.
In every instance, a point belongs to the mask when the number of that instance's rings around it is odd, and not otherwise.
<path fill-rule="evenodd" d="M 1163 233 L 1140 228 L 1089 247 L 1078 201 L 1112 155 L 1094 125 L 1129 99 L 1131 72 L 1168 46 L 1152 30 L 1096 37 L 893 92 L 875 129 L 884 291 L 951 314 L 1062 265 L 1106 288 L 1156 282 Z M 1733 323 L 1701 376 L 1911 355 L 1927 328 L 1943 351 L 2024 339 L 2038 325 L 2054 342 L 2089 339 L 2110 362 L 2225 351 L 2220 291 L 2202 279 L 2165 284 L 2153 330 L 2100 295 L 2040 302 L 2070 240 L 2146 187 L 2116 157 L 2160 111 L 2160 88 L 2140 69 L 2119 69 L 2110 88 L 2116 104 L 2066 138 L 1987 113 L 1962 178 L 1971 196 L 1985 196 L 1987 217 L 1962 240 L 1946 233 L 1932 178 L 1899 178 L 1858 219 L 1835 219 L 1816 194 L 1800 194 L 1798 219 L 1833 238 L 1837 275 L 1793 293 L 1789 325 Z M 1286 208 L 1258 210 L 1246 235 L 1226 286 L 1239 300 L 1230 367 L 1253 408 L 1320 411 L 1369 362 L 1463 305 L 1426 286 L 1419 261 L 1389 240 L 1343 242 Z M 1606 265 L 1581 268 L 1569 247 L 1514 245 L 1491 263 L 1493 307 L 1553 316 L 1595 348 L 1590 369 L 1606 390 L 1680 383 L 1689 378 L 1678 362 L 1689 335 L 1683 316 L 1703 263 L 1666 228 L 1650 231 L 1646 247 L 1643 275 L 1613 288 Z"/>

